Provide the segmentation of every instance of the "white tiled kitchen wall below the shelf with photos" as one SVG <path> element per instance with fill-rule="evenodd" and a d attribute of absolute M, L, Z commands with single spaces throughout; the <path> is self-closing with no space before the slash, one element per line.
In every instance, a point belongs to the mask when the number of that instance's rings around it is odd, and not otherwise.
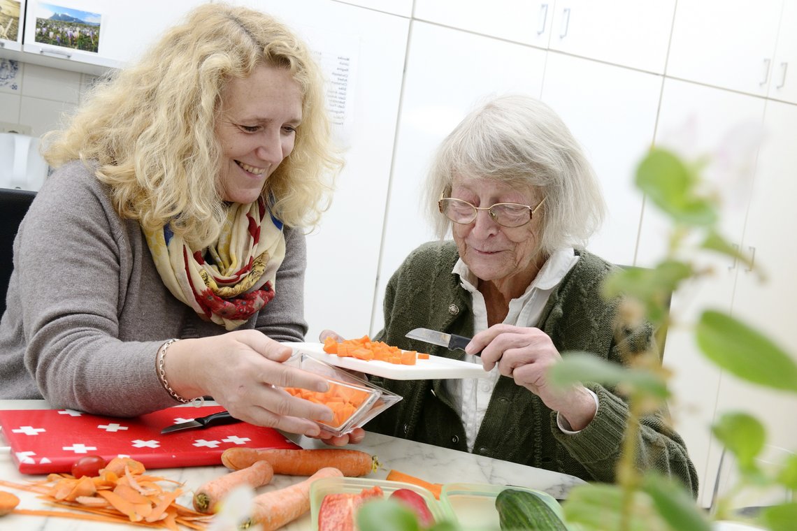
<path fill-rule="evenodd" d="M 84 88 L 94 79 L 80 72 L 0 59 L 0 122 L 20 124 L 20 132 L 29 135 L 43 135 L 57 127 L 62 113 L 80 103 Z"/>

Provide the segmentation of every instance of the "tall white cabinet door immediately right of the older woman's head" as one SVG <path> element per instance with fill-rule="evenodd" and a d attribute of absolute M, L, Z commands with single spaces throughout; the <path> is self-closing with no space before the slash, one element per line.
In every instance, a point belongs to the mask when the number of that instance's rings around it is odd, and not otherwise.
<path fill-rule="evenodd" d="M 634 263 L 642 219 L 634 170 L 653 143 L 661 92 L 662 76 L 548 53 L 542 99 L 587 151 L 608 205 L 588 248 L 615 264 Z"/>

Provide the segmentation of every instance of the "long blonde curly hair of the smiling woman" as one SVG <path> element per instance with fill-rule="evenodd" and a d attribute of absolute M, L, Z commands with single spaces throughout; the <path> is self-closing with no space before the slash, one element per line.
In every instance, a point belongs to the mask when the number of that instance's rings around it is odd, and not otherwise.
<path fill-rule="evenodd" d="M 147 230 L 171 221 L 194 248 L 218 238 L 226 206 L 215 135 L 221 96 L 233 78 L 266 64 L 287 68 L 302 92 L 292 153 L 262 192 L 288 226 L 312 227 L 328 208 L 343 162 L 332 148 L 320 67 L 280 21 L 242 7 L 206 4 L 131 68 L 92 89 L 68 127 L 45 135 L 50 166 L 80 159 L 111 186 L 116 211 Z"/>

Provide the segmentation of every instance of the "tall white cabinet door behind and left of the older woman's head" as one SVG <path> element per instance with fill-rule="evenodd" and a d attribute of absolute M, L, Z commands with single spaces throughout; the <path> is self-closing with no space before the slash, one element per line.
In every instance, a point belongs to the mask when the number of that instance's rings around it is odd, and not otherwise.
<path fill-rule="evenodd" d="M 518 64 L 524 68 L 510 68 Z M 413 24 L 371 333 L 382 329 L 383 295 L 393 272 L 410 251 L 434 239 L 421 190 L 435 148 L 488 96 L 522 92 L 540 97 L 544 65 L 540 49 Z"/>

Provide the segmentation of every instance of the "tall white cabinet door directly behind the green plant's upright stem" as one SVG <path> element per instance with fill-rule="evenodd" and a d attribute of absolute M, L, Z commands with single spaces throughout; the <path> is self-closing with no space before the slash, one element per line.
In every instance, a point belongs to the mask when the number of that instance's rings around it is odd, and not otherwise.
<path fill-rule="evenodd" d="M 717 88 L 678 80 L 665 80 L 656 132 L 658 146 L 675 149 L 688 158 L 706 155 L 717 162 L 718 146 L 728 145 L 734 132 L 760 127 L 764 100 Z M 733 182 L 715 164 L 704 174 L 710 185 L 724 197 L 721 232 L 729 240 L 741 241 L 750 183 Z M 650 267 L 665 256 L 669 223 L 654 205 L 646 202 L 639 236 L 637 264 Z M 709 307 L 731 309 L 736 272 L 732 260 L 708 256 L 701 265 L 713 272 L 708 278 L 689 283 L 673 294 L 670 326 L 665 345 L 664 364 L 673 371 L 670 381 L 677 401 L 670 412 L 678 433 L 686 442 L 689 455 L 700 476 L 700 500 L 708 506 L 719 461 L 709 456 L 712 437 L 709 426 L 714 419 L 720 371 L 705 359 L 694 342 L 691 324 Z"/>

